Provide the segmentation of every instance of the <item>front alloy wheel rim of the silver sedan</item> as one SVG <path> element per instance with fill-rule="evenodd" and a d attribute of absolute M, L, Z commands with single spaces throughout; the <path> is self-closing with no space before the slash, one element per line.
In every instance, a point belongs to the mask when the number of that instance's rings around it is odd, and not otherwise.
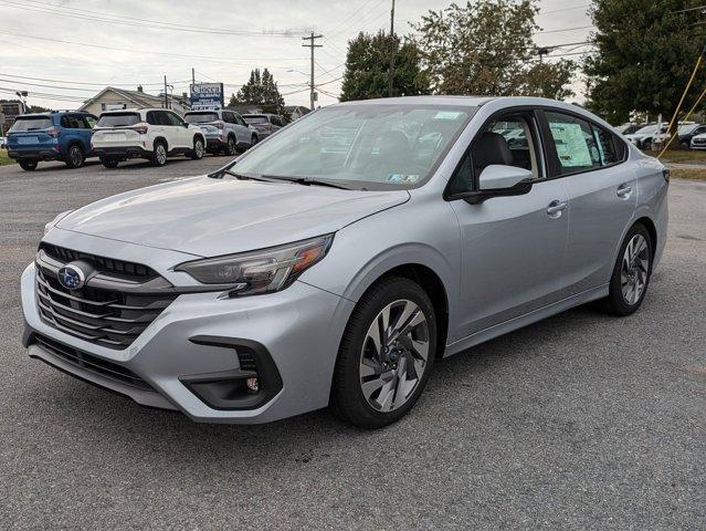
<path fill-rule="evenodd" d="M 394 301 L 372 320 L 360 353 L 360 388 L 370 406 L 398 409 L 417 389 L 429 358 L 429 324 L 412 301 Z"/>

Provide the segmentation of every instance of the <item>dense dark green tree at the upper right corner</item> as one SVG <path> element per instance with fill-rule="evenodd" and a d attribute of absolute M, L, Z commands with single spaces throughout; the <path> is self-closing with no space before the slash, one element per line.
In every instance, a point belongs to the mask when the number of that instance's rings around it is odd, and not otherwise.
<path fill-rule="evenodd" d="M 618 124 L 632 111 L 670 119 L 704 46 L 693 23 L 698 12 L 686 0 L 597 0 L 591 17 L 596 54 L 584 62 L 587 106 Z M 691 106 L 704 86 L 702 69 L 685 102 Z"/>

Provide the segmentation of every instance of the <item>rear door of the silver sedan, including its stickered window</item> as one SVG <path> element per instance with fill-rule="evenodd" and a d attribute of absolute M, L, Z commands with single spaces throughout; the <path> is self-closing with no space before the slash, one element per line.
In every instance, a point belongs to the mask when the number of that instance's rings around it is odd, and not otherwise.
<path fill-rule="evenodd" d="M 550 171 L 569 196 L 567 294 L 609 282 L 615 252 L 637 198 L 636 174 L 623 164 L 628 146 L 608 128 L 565 111 L 545 111 Z"/>

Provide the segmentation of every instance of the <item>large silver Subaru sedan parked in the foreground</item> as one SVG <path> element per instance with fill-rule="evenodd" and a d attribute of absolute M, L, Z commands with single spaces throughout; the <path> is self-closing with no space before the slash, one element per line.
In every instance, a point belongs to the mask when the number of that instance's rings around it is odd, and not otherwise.
<path fill-rule="evenodd" d="M 438 358 L 590 301 L 635 312 L 667 188 L 661 163 L 573 105 L 338 104 L 211 175 L 56 216 L 22 275 L 23 341 L 199 421 L 330 405 L 380 427 Z"/>

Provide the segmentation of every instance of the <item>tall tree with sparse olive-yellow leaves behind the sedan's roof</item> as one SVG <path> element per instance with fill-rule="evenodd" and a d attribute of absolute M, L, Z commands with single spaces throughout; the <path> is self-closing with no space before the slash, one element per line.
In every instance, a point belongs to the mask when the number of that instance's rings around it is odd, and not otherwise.
<path fill-rule="evenodd" d="M 571 96 L 573 63 L 538 61 L 537 12 L 535 0 L 480 0 L 429 11 L 413 28 L 433 92 Z"/>

